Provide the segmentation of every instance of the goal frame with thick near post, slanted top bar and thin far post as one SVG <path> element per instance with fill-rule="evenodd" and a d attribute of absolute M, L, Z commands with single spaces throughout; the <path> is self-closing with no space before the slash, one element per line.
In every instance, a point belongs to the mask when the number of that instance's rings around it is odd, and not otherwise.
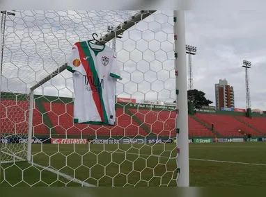
<path fill-rule="evenodd" d="M 113 30 L 109 31 L 106 35 L 100 38 L 101 42 L 107 43 L 115 39 L 118 35 L 122 34 L 127 29 L 131 28 L 141 20 L 152 15 L 156 10 L 141 10 L 136 15 L 130 17 L 127 21 L 123 22 Z M 189 187 L 189 143 L 188 143 L 188 112 L 187 112 L 187 65 L 186 65 L 186 52 L 185 52 L 185 13 L 183 10 L 173 10 L 173 34 L 174 34 L 174 70 L 175 70 L 175 103 L 176 112 L 175 129 L 177 133 L 176 148 L 177 156 L 176 162 L 178 165 L 177 170 L 177 183 L 178 187 Z M 2 35 L 1 35 L 2 38 Z M 0 43 L 0 48 L 2 43 Z M 1 65 L 2 67 L 2 65 Z M 34 109 L 34 90 L 51 80 L 67 67 L 67 63 L 58 67 L 52 74 L 49 74 L 36 85 L 30 88 L 29 92 L 29 123 L 28 123 L 28 144 L 26 160 L 33 164 L 31 155 L 31 139 L 33 130 L 33 109 Z M 1 85 L 0 85 L 1 87 Z M 1 93 L 0 93 L 1 95 Z M 1 150 L 1 144 L 0 144 Z M 0 161 L 1 162 L 1 161 Z"/>

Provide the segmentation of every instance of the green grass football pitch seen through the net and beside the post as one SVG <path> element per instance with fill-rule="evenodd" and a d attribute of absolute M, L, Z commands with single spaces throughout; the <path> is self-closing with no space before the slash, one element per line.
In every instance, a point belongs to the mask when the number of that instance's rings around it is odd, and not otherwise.
<path fill-rule="evenodd" d="M 175 144 L 33 144 L 32 148 L 34 163 L 90 185 L 176 186 Z M 264 186 L 265 155 L 264 142 L 189 144 L 190 185 Z M 27 162 L 1 164 L 0 178 L 1 186 L 81 186 Z"/>

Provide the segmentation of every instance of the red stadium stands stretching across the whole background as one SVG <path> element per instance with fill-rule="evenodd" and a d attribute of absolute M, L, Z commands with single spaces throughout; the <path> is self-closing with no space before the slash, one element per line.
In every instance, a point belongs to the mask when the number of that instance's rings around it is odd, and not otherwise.
<path fill-rule="evenodd" d="M 26 134 L 28 132 L 29 101 L 2 99 L 0 109 L 1 133 Z M 189 137 L 214 137 L 215 132 L 208 128 L 212 122 L 214 130 L 224 137 L 243 136 L 244 133 L 251 133 L 252 136 L 266 134 L 265 118 L 237 115 L 239 119 L 237 120 L 233 117 L 233 113 L 225 115 L 197 112 L 194 117 L 189 115 Z M 176 113 L 173 110 L 137 109 L 120 105 L 120 108 L 116 108 L 116 126 L 76 124 L 73 123 L 72 114 L 72 103 L 36 102 L 33 110 L 33 134 L 49 135 L 50 132 L 54 132 L 54 135 L 146 136 L 150 133 L 164 137 L 176 135 Z"/>

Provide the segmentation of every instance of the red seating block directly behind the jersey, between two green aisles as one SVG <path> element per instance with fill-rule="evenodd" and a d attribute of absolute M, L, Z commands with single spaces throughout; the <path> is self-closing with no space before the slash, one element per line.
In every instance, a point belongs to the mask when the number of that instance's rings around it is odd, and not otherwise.
<path fill-rule="evenodd" d="M 59 135 L 147 135 L 138 123 L 123 112 L 123 108 L 116 110 L 116 126 L 97 126 L 73 123 L 74 108 L 72 104 L 42 103 L 42 105 L 52 121 L 54 130 Z"/>

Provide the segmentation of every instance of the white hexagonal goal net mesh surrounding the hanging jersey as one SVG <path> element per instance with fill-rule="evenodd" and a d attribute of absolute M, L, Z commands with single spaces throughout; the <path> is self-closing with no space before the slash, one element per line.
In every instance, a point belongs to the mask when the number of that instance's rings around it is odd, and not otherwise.
<path fill-rule="evenodd" d="M 172 11 L 15 11 L 1 22 L 2 185 L 177 185 Z M 115 126 L 73 122 L 64 65 L 93 33 L 123 77 Z"/>

